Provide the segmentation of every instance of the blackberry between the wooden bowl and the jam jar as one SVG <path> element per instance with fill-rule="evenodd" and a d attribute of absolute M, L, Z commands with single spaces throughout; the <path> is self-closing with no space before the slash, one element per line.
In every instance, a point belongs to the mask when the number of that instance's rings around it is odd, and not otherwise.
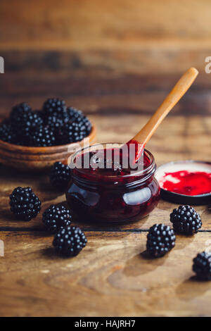
<path fill-rule="evenodd" d="M 51 185 L 60 190 L 65 190 L 70 181 L 70 175 L 71 170 L 68 165 L 64 165 L 61 162 L 54 163 L 50 173 Z"/>

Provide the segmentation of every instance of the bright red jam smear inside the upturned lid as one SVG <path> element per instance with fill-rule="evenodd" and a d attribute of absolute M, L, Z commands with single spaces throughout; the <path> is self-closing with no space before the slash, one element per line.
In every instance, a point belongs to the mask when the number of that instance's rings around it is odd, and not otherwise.
<path fill-rule="evenodd" d="M 176 179 L 177 182 L 165 180 L 169 175 Z M 188 170 L 165 173 L 161 186 L 163 189 L 167 189 L 167 191 L 190 196 L 210 193 L 211 173 L 202 171 L 191 172 Z"/>

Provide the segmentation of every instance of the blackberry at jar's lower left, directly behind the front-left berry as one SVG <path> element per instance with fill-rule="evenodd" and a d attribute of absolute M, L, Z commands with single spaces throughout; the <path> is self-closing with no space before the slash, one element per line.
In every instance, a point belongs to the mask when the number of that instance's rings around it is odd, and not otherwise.
<path fill-rule="evenodd" d="M 47 208 L 42 216 L 42 221 L 47 230 L 52 233 L 60 230 L 61 228 L 71 224 L 71 214 L 65 206 L 51 205 Z"/>

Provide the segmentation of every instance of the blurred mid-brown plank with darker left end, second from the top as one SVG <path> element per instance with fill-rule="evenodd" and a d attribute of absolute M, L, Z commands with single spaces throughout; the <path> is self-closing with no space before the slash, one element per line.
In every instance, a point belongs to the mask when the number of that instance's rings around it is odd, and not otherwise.
<path fill-rule="evenodd" d="M 1 42 L 0 42 L 1 45 Z M 111 45 L 110 47 L 90 49 L 63 50 L 55 46 L 53 50 L 19 49 L 20 44 L 11 46 L 12 50 L 4 50 L 1 46 L 1 56 L 5 60 L 6 73 L 69 73 L 72 75 L 110 75 L 117 73 L 128 74 L 175 74 L 183 73 L 193 66 L 205 72 L 205 58 L 210 54 L 210 40 L 206 43 L 182 44 L 177 42 L 148 42 L 140 45 L 124 46 Z M 18 49 L 14 49 L 18 48 Z"/>

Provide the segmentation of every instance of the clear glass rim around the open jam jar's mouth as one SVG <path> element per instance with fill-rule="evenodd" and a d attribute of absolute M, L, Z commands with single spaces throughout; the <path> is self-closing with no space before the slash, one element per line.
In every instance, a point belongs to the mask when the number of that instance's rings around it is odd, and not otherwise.
<path fill-rule="evenodd" d="M 83 149 L 79 149 L 79 151 L 76 151 L 74 154 L 72 154 L 72 156 L 70 156 L 70 164 L 73 164 L 75 162 L 75 158 L 79 155 L 79 154 L 84 154 L 84 152 L 86 151 L 96 151 L 96 148 L 98 146 L 101 146 L 101 149 L 105 149 L 105 146 L 107 145 L 118 145 L 118 146 L 122 146 L 123 143 L 120 142 L 105 142 L 102 144 L 93 144 L 91 146 L 86 146 Z M 115 178 L 120 178 L 120 177 L 124 177 L 124 178 L 130 178 L 130 177 L 143 177 L 145 175 L 148 175 L 149 173 L 151 173 L 153 170 L 155 171 L 156 165 L 155 165 L 155 158 L 153 156 L 153 154 L 148 151 L 148 149 L 144 149 L 144 152 L 146 153 L 146 155 L 149 158 L 149 165 L 147 168 L 144 168 L 143 170 L 136 170 L 136 171 L 132 171 L 132 173 L 129 174 L 125 174 L 125 175 L 109 175 L 110 179 L 115 179 Z M 75 167 L 73 167 L 75 168 Z M 79 173 L 84 173 L 84 169 L 83 168 L 76 168 L 77 172 Z M 97 172 L 91 173 L 89 174 L 90 177 L 97 178 L 97 177 L 108 177 L 108 175 L 103 175 L 102 173 L 99 174 Z"/>

